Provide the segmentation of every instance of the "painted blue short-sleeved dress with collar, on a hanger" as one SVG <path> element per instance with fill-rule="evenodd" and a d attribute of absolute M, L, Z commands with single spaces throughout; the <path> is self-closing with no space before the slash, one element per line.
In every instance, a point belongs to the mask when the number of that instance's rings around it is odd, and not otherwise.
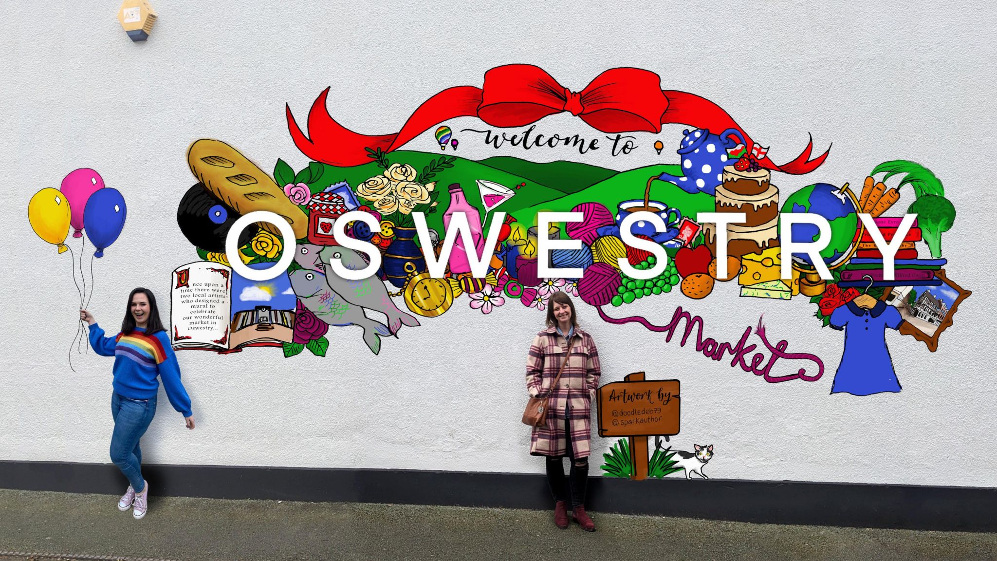
<path fill-rule="evenodd" d="M 886 327 L 896 329 L 901 323 L 900 312 L 882 301 L 877 301 L 871 309 L 850 301 L 834 309 L 831 327 L 844 330 L 844 352 L 834 372 L 831 393 L 869 395 L 900 391 L 893 360 L 886 348 Z"/>

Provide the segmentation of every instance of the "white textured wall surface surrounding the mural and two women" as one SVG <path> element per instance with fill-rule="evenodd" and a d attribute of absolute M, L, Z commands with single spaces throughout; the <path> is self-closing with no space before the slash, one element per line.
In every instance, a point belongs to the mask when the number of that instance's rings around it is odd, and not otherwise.
<path fill-rule="evenodd" d="M 653 70 L 663 88 L 720 104 L 773 147 L 777 162 L 796 156 L 808 132 L 819 151 L 833 142 L 818 172 L 780 178 L 784 193 L 815 181 L 860 186 L 874 165 L 896 158 L 930 167 L 958 210 L 943 237 L 946 269 L 973 295 L 937 352 L 887 334 L 901 393 L 829 395 L 842 335 L 820 328 L 804 298 L 745 301 L 725 285 L 706 300 L 657 296 L 626 311 L 665 322 L 681 304 L 722 340 L 736 340 L 764 311 L 773 337 L 824 358 L 829 372 L 814 383 L 766 383 L 643 327 L 603 323 L 586 305 L 580 319 L 599 344 L 604 382 L 640 369 L 682 380 L 673 444 L 714 444 L 715 477 L 997 485 L 994 5 L 769 2 L 731 4 L 720 16 L 714 2 L 612 10 L 504 2 L 488 13 L 456 1 L 154 0 L 160 21 L 150 41 L 134 44 L 116 20 L 117 1 L 76 4 L 0 8 L 0 458 L 107 461 L 112 428 L 111 359 L 91 352 L 75 357 L 77 373 L 68 366 L 77 293 L 68 254 L 57 256 L 25 220 L 35 191 L 93 167 L 124 193 L 128 224 L 97 264 L 91 303 L 113 325 L 128 289 L 151 286 L 168 300 L 169 273 L 195 259 L 174 219 L 193 183 L 184 161 L 191 141 L 220 139 L 264 169 L 277 158 L 297 169 L 307 160 L 287 133 L 285 102 L 303 120 L 331 85 L 330 110 L 345 125 L 396 131 L 439 90 L 480 86 L 489 68 L 524 62 L 573 90 L 611 67 Z M 538 128 L 597 134 L 570 116 Z M 667 153 L 681 129 L 661 135 Z M 495 153 L 461 140 L 461 156 Z M 607 152 L 584 161 L 648 163 L 646 149 L 643 160 Z M 161 390 L 147 461 L 540 472 L 518 421 L 523 356 L 540 323 L 517 302 L 484 316 L 462 299 L 385 340 L 376 357 L 345 332 L 330 333 L 324 359 L 284 359 L 277 349 L 181 352 L 197 429 L 183 429 Z M 596 451 L 609 444 L 597 439 Z"/>

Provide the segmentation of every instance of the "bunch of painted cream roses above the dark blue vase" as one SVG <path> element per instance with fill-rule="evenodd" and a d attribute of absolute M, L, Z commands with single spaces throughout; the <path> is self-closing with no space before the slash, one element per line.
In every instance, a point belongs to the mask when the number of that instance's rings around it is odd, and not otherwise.
<path fill-rule="evenodd" d="M 408 164 L 392 164 L 384 174 L 374 176 L 356 188 L 358 197 L 366 200 L 383 220 L 396 226 L 411 227 L 415 224 L 413 212 L 436 212 L 436 182 L 422 184 L 416 181 L 419 173 Z"/>

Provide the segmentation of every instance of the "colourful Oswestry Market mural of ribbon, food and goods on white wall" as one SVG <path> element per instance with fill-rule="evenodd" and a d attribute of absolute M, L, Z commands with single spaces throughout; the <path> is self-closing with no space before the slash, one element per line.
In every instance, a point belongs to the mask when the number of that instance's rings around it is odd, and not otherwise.
<path fill-rule="evenodd" d="M 286 109 L 295 145 L 312 160 L 297 172 L 277 159 L 267 174 L 216 140 L 190 146 L 195 184 L 177 209 L 177 223 L 201 262 L 184 267 L 205 285 L 218 282 L 204 273 L 212 267 L 230 272 L 235 284 L 247 275 L 243 266 L 263 271 L 293 250 L 286 271 L 272 282 L 285 286 L 280 296 L 295 301 L 246 304 L 237 314 L 230 287 L 228 307 L 211 308 L 214 319 L 202 320 L 213 327 L 199 335 L 182 332 L 195 326 L 189 317 L 196 313 L 174 306 L 181 313 L 173 318 L 174 335 L 210 347 L 236 327 L 264 325 L 269 334 L 255 333 L 261 336 L 251 337 L 252 345 L 281 346 L 292 356 L 305 348 L 324 355 L 338 336 L 356 332 L 376 354 L 391 337 L 419 336 L 403 327 L 443 320 L 455 305 L 497 317 L 514 302 L 543 310 L 549 294 L 561 289 L 596 307 L 607 322 L 642 324 L 665 333 L 664 342 L 681 331 L 680 345 L 692 341 L 696 352 L 715 361 L 729 354 L 732 367 L 768 382 L 820 379 L 825 364 L 819 356 L 791 351 L 785 339 L 770 340 L 767 327 L 781 326 L 745 325 L 737 342 L 704 336 L 703 318 L 690 306 L 734 290 L 760 317 L 768 306 L 809 299 L 815 327 L 845 333 L 831 392 L 865 395 L 900 389 L 887 328 L 934 350 L 958 301 L 969 295 L 944 276 L 941 234 L 953 227 L 955 209 L 926 167 L 884 162 L 872 167 L 857 194 L 848 184 L 819 181 L 788 192 L 777 186 L 780 178 L 818 173 L 830 149 L 812 159 L 811 141 L 793 161 L 776 164 L 770 147 L 722 108 L 662 90 L 659 77 L 646 70 L 608 70 L 575 93 L 534 66 L 494 68 L 483 87 L 440 92 L 390 135 L 339 125 L 326 109 L 328 93 L 315 100 L 307 132 Z M 540 128 L 544 117 L 562 112 L 596 134 Z M 484 127 L 454 128 L 449 121 L 458 117 L 477 118 Z M 689 127 L 678 141 L 678 158 L 661 156 L 673 141 L 656 136 L 671 123 Z M 424 142 L 430 143 L 425 152 L 411 150 Z M 479 142 L 506 151 L 480 161 L 457 155 L 460 143 Z M 578 161 L 541 164 L 508 155 L 530 150 L 577 152 Z M 646 153 L 648 161 L 630 170 L 583 162 L 599 150 Z M 897 212 L 905 195 L 906 212 Z M 294 240 L 268 222 L 229 236 L 236 221 L 258 211 L 276 215 Z M 357 212 L 362 215 L 340 220 Z M 545 212 L 576 215 L 548 224 Z M 236 256 L 226 252 L 229 241 Z M 576 245 L 559 247 L 566 243 Z M 445 263 L 442 275 L 430 273 L 437 260 Z M 472 273 L 475 262 L 487 262 L 485 275 Z M 572 273 L 542 274 L 550 268 Z M 361 280 L 344 275 L 363 271 L 370 274 Z M 251 290 L 265 292 L 256 285 Z M 670 322 L 614 312 L 645 298 L 672 298 Z M 351 325 L 360 329 L 333 328 Z M 286 332 L 273 336 L 279 326 Z M 222 351 L 247 346 L 215 345 Z M 857 385 L 848 381 L 856 365 L 863 372 Z"/>

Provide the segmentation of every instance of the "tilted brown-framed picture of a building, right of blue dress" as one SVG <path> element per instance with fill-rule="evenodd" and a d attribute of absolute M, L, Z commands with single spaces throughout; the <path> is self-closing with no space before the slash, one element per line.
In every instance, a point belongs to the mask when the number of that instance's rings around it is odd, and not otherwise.
<path fill-rule="evenodd" d="M 946 277 L 945 270 L 936 271 L 935 279 L 941 284 L 893 286 L 879 298 L 900 312 L 900 333 L 924 341 L 931 352 L 938 349 L 938 336 L 952 324 L 959 303 L 972 293 Z"/>

